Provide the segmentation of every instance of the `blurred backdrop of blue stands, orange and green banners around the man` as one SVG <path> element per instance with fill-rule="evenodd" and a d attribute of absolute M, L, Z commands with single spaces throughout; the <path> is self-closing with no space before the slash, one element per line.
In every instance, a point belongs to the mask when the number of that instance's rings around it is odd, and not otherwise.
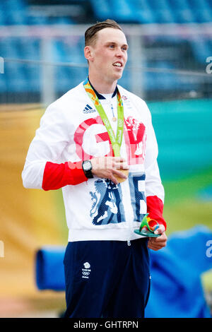
<path fill-rule="evenodd" d="M 64 292 L 35 282 L 36 251 L 67 243 L 61 190 L 24 189 L 21 172 L 45 107 L 87 76 L 86 28 L 107 18 L 129 43 L 119 84 L 151 110 L 167 235 L 212 230 L 212 0 L 1 0 L 1 317 L 65 308 Z M 211 271 L 201 276 L 209 306 Z"/>

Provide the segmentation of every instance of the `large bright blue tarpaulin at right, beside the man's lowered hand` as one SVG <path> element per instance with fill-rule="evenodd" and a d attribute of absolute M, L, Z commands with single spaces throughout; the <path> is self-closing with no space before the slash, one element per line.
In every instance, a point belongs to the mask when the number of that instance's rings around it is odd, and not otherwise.
<path fill-rule="evenodd" d="M 146 317 L 211 317 L 204 299 L 201 273 L 212 268 L 206 244 L 212 232 L 198 226 L 176 232 L 167 247 L 151 251 L 151 293 Z"/>

